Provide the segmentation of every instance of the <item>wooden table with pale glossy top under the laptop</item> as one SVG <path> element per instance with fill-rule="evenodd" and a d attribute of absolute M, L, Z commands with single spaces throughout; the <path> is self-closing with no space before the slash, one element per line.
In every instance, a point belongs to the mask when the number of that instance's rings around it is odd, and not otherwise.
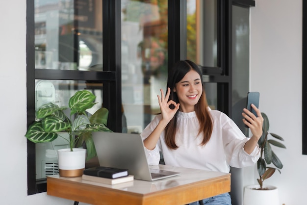
<path fill-rule="evenodd" d="M 230 192 L 230 174 L 155 165 L 151 168 L 181 172 L 156 181 L 134 179 L 108 185 L 81 177 L 47 177 L 47 194 L 92 205 L 185 205 Z"/>

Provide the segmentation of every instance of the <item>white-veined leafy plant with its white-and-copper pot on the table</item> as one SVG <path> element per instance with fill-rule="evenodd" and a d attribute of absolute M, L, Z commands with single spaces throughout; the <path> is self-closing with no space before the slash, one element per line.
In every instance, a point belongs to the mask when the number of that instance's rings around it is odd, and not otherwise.
<path fill-rule="evenodd" d="M 34 143 L 51 142 L 57 137 L 62 137 L 68 141 L 70 148 L 58 150 L 59 174 L 64 177 L 76 177 L 83 174 L 85 160 L 96 155 L 94 142 L 92 139 L 93 131 L 111 132 L 106 127 L 108 110 L 104 107 L 98 109 L 93 115 L 89 116 L 86 110 L 93 107 L 96 96 L 87 90 L 77 91 L 69 99 L 68 106 L 70 115 L 64 113 L 68 107 L 59 107 L 53 103 L 46 103 L 36 111 L 37 120 L 33 122 L 26 131 L 26 138 Z M 69 135 L 68 139 L 62 133 Z M 85 149 L 79 148 L 85 143 Z M 72 154 L 79 155 L 77 159 L 64 162 L 66 157 Z M 86 159 L 85 159 L 86 156 Z M 80 160 L 80 161 L 79 161 Z M 76 168 L 70 168 L 69 165 Z"/>

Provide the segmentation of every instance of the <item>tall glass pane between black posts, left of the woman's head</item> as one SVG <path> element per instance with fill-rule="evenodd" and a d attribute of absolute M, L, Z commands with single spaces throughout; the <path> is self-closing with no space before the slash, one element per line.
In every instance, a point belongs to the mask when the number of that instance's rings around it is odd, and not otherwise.
<path fill-rule="evenodd" d="M 122 102 L 127 132 L 159 113 L 167 81 L 167 0 L 122 0 Z"/>

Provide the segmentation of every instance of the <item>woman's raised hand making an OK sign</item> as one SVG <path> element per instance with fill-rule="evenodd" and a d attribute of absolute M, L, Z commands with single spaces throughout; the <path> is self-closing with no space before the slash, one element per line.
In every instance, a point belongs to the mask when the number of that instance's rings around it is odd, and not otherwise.
<path fill-rule="evenodd" d="M 176 103 L 173 100 L 168 100 L 170 97 L 170 93 L 171 93 L 171 89 L 167 88 L 167 92 L 166 92 L 166 96 L 164 96 L 163 90 L 160 89 L 161 91 L 161 97 L 159 95 L 158 96 L 158 100 L 159 100 L 159 106 L 161 109 L 161 114 L 162 114 L 162 119 L 161 120 L 165 120 L 167 123 L 170 122 L 173 117 L 175 116 L 177 110 L 179 109 L 179 103 Z M 175 106 L 174 109 L 170 108 L 170 105 L 173 104 Z"/>

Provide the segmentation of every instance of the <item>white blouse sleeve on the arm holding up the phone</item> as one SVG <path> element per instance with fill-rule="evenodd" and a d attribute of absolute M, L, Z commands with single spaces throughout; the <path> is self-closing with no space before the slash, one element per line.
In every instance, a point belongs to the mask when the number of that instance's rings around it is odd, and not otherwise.
<path fill-rule="evenodd" d="M 225 125 L 222 128 L 223 144 L 226 160 L 232 167 L 242 168 L 253 166 L 260 156 L 260 148 L 257 145 L 251 154 L 244 150 L 247 138 L 238 126 L 227 116 Z"/>

